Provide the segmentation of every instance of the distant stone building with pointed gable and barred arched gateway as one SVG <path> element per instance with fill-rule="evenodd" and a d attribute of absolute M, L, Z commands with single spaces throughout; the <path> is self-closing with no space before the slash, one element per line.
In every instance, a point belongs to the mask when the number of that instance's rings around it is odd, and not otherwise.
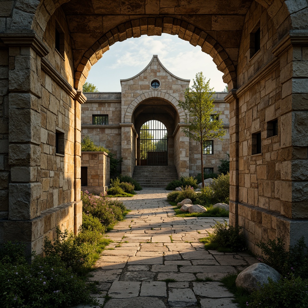
<path fill-rule="evenodd" d="M 187 111 L 179 107 L 189 81 L 169 72 L 157 55 L 136 76 L 121 80 L 121 92 L 86 93 L 81 105 L 81 137 L 89 136 L 122 157 L 121 173 L 132 176 L 136 165 L 175 166 L 178 176 L 201 172 L 201 149 L 183 133 Z M 204 145 L 205 172 L 218 172 L 229 153 L 229 105 L 227 93 L 215 94 L 227 133 L 224 139 Z"/>

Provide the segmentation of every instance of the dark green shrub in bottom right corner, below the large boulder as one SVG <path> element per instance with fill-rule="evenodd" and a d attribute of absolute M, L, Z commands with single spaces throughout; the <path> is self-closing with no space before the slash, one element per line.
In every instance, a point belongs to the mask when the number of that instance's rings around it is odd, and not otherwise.
<path fill-rule="evenodd" d="M 253 291 L 246 304 L 249 308 L 303 308 L 308 307 L 308 281 L 300 277 L 264 284 Z"/>

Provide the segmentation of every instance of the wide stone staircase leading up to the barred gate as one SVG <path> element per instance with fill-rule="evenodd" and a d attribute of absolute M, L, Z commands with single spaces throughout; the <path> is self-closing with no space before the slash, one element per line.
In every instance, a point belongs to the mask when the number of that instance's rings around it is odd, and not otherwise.
<path fill-rule="evenodd" d="M 165 188 L 178 177 L 175 166 L 135 166 L 133 178 L 141 187 Z"/>

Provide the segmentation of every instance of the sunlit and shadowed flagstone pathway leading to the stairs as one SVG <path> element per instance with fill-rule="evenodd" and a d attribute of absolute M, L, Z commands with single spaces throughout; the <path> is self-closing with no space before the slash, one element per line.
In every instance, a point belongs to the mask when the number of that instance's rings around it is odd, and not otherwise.
<path fill-rule="evenodd" d="M 144 188 L 132 198 L 121 198 L 132 211 L 107 233 L 115 242 L 101 253 L 90 278 L 99 281 L 99 302 L 107 294 L 111 299 L 104 308 L 198 307 L 198 301 L 201 308 L 237 307 L 220 282 L 202 279 L 219 280 L 256 259 L 205 250 L 199 238 L 212 232 L 216 221 L 229 219 L 175 217 L 167 193 Z"/>

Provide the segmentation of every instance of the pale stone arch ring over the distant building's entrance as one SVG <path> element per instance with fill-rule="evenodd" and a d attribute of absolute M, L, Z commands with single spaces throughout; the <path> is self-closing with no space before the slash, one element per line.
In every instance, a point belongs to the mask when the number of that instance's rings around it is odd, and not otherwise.
<path fill-rule="evenodd" d="M 184 109 L 179 106 L 178 100 L 176 98 L 174 98 L 172 95 L 165 93 L 165 92 L 161 92 L 161 91 L 149 91 L 149 92 L 143 93 L 143 94 L 139 95 L 138 97 L 136 97 L 132 101 L 132 103 L 128 106 L 128 108 L 125 112 L 124 123 L 132 123 L 132 116 L 133 116 L 133 113 L 134 113 L 136 107 L 140 103 L 142 103 L 144 100 L 150 99 L 150 98 L 160 98 L 160 99 L 163 99 L 164 101 L 167 101 L 168 103 L 170 103 L 172 105 L 172 107 L 174 107 L 176 112 L 178 113 L 179 118 L 180 118 L 180 122 L 184 123 L 187 116 L 186 116 Z"/>

